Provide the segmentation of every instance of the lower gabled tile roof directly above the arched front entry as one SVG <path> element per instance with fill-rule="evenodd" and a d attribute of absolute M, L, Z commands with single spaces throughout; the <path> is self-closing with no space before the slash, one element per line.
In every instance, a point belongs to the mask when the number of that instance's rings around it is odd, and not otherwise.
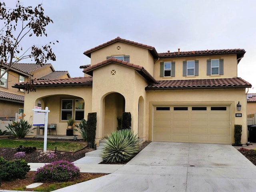
<path fill-rule="evenodd" d="M 100 68 L 102 66 L 105 66 L 105 65 L 107 65 L 109 63 L 113 63 L 113 62 L 117 63 L 117 64 L 127 66 L 127 67 L 134 68 L 134 70 L 136 70 L 146 80 L 148 80 L 149 82 L 156 83 L 156 80 L 154 79 L 154 77 L 152 77 L 152 75 L 150 75 L 149 72 L 144 67 L 133 64 L 133 63 L 129 63 L 127 61 L 123 61 L 123 60 L 120 60 L 120 59 L 117 59 L 117 58 L 114 58 L 114 57 L 108 58 L 107 60 L 99 62 L 95 65 L 91 65 L 91 66 L 85 68 L 83 72 L 90 75 L 90 76 L 93 76 L 93 70 L 94 69 Z"/>

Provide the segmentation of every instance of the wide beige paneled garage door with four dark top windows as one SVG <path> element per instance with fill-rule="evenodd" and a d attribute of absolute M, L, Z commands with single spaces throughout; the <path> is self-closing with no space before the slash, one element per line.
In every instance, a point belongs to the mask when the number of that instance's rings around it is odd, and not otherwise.
<path fill-rule="evenodd" d="M 231 144 L 230 106 L 154 106 L 153 141 Z"/>

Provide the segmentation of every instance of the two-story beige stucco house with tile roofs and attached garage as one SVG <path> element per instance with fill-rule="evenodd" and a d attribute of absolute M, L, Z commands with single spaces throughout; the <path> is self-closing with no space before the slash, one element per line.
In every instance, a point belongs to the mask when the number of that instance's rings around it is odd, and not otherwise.
<path fill-rule="evenodd" d="M 24 110 L 33 115 L 40 100 L 60 135 L 66 134 L 68 117 L 78 123 L 97 112 L 97 142 L 116 130 L 117 116 L 130 112 L 131 128 L 143 140 L 232 144 L 234 125 L 241 124 L 246 143 L 251 84 L 237 77 L 244 54 L 244 49 L 158 53 L 117 37 L 84 52 L 91 59 L 80 67 L 84 77 L 34 82 L 37 90 L 25 93 Z"/>

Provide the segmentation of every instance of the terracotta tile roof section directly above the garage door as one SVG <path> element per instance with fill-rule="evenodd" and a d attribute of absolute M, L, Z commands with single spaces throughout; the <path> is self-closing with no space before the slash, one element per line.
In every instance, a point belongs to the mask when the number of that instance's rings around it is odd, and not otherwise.
<path fill-rule="evenodd" d="M 252 85 L 242 78 L 161 80 L 148 85 L 145 90 L 206 89 L 206 88 L 250 88 Z"/>

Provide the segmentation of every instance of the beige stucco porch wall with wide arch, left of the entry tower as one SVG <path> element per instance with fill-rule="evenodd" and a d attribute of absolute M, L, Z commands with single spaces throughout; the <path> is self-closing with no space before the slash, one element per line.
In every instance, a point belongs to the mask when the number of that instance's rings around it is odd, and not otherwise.
<path fill-rule="evenodd" d="M 42 109 L 49 108 L 48 123 L 57 123 L 57 134 L 66 135 L 67 122 L 60 120 L 60 107 L 62 98 L 82 98 L 84 99 L 84 118 L 87 120 L 88 113 L 92 110 L 92 87 L 54 87 L 37 88 L 36 92 L 26 93 L 24 102 L 25 119 L 30 116 L 32 123 L 34 106 L 37 106 L 38 100 L 42 102 Z M 78 123 L 78 122 L 76 122 Z M 75 132 L 74 132 L 75 133 Z M 36 132 L 33 134 L 35 135 Z"/>

